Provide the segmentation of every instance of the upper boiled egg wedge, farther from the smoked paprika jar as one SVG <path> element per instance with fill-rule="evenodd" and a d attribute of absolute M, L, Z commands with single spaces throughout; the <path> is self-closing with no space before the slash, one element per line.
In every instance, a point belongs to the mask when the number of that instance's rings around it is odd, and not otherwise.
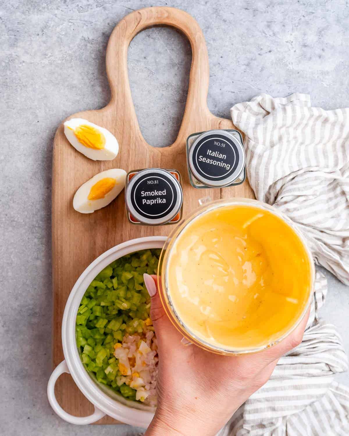
<path fill-rule="evenodd" d="M 92 160 L 113 160 L 119 153 L 116 137 L 87 119 L 68 119 L 64 134 L 76 150 Z"/>

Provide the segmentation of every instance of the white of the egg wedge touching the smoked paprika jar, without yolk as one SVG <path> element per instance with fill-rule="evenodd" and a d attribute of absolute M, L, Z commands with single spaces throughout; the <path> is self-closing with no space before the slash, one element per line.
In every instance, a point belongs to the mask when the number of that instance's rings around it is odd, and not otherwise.
<path fill-rule="evenodd" d="M 104 198 L 98 200 L 89 200 L 88 196 L 93 185 L 105 177 L 111 177 L 116 180 L 115 186 L 109 191 Z M 125 187 L 126 171 L 120 168 L 112 168 L 111 170 L 102 171 L 96 174 L 87 182 L 79 187 L 73 198 L 73 207 L 75 211 L 82 214 L 90 214 L 98 209 L 104 208 L 116 198 Z"/>

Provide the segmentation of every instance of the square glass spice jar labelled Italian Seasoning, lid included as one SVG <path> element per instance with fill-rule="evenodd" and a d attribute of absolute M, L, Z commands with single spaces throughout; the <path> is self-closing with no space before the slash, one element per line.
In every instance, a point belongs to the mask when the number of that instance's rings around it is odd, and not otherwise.
<path fill-rule="evenodd" d="M 187 138 L 189 181 L 195 188 L 236 186 L 246 178 L 243 138 L 238 130 L 208 130 Z"/>

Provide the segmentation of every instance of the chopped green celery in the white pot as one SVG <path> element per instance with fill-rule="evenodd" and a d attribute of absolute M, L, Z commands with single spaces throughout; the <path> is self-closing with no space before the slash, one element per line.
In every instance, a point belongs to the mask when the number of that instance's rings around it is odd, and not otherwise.
<path fill-rule="evenodd" d="M 136 391 L 124 383 L 114 345 L 127 333 L 154 331 L 145 322 L 150 317 L 150 297 L 143 274 L 156 273 L 160 252 L 143 250 L 106 266 L 87 288 L 76 316 L 76 344 L 86 369 L 130 400 L 136 400 Z"/>

